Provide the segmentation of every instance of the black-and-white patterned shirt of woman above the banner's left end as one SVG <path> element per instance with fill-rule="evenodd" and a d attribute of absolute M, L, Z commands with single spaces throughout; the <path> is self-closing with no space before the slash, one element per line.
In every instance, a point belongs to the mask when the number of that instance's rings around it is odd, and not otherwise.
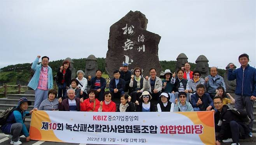
<path fill-rule="evenodd" d="M 38 110 L 58 110 L 58 105 L 59 101 L 57 99 L 54 99 L 53 101 L 46 99 L 42 101 Z"/>

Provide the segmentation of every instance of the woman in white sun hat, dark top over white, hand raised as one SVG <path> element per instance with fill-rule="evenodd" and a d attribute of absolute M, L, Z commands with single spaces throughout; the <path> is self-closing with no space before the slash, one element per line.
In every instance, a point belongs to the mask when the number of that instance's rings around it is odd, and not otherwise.
<path fill-rule="evenodd" d="M 136 112 L 156 112 L 154 104 L 149 101 L 151 99 L 152 96 L 149 94 L 148 91 L 142 92 L 142 95 L 140 96 L 140 103 L 139 101 L 135 102 L 137 106 Z"/>

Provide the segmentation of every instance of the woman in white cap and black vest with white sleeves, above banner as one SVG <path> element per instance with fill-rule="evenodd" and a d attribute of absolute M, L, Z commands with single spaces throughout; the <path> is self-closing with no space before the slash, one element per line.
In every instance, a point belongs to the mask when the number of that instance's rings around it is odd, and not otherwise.
<path fill-rule="evenodd" d="M 170 102 L 170 96 L 168 93 L 161 93 L 159 96 L 161 97 L 160 102 L 157 104 L 158 112 L 174 112 L 174 103 Z"/>

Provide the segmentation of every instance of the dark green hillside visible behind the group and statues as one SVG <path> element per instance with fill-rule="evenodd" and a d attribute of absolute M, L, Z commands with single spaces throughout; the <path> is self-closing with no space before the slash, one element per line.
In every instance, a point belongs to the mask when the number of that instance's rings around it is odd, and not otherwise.
<path fill-rule="evenodd" d="M 105 72 L 105 58 L 96 58 L 98 68 Z M 84 70 L 85 69 L 85 61 L 86 58 L 80 59 L 72 59 L 74 61 L 74 68 L 76 70 Z M 58 68 L 61 66 L 63 59 L 57 61 L 49 62 L 49 66 L 51 66 L 53 70 L 53 76 L 57 74 Z M 195 63 L 189 63 L 191 65 L 191 70 L 194 70 L 196 67 Z M 8 85 L 27 85 L 28 80 L 30 79 L 32 63 L 23 63 L 16 65 L 9 65 L 0 69 L 0 86 L 4 84 Z M 170 69 L 171 72 L 175 71 L 176 61 L 160 61 L 160 65 L 162 66 L 162 70 Z M 218 74 L 223 76 L 225 70 L 218 69 Z"/>

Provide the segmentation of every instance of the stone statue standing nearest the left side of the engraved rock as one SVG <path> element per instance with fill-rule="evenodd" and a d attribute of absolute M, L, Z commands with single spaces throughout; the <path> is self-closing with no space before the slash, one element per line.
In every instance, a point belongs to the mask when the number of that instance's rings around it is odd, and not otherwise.
<path fill-rule="evenodd" d="M 88 79 L 88 76 L 95 77 L 96 70 L 97 70 L 97 59 L 94 55 L 89 55 L 88 58 L 85 60 L 85 71 L 84 77 Z"/>

